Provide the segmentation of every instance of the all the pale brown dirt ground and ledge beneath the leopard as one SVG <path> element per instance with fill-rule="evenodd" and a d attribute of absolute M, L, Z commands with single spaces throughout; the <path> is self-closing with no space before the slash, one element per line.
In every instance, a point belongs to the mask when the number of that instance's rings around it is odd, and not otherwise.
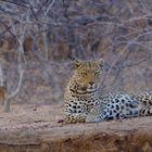
<path fill-rule="evenodd" d="M 151 152 L 152 117 L 63 124 L 63 105 L 12 105 L 0 114 L 0 152 Z"/>

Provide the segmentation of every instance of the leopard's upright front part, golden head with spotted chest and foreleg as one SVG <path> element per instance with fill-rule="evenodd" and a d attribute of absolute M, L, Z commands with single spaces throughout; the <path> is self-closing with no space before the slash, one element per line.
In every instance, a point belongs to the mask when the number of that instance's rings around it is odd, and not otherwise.
<path fill-rule="evenodd" d="M 98 87 L 103 60 L 94 62 L 75 61 L 75 72 L 65 90 L 65 122 L 81 123 L 99 102 Z"/>

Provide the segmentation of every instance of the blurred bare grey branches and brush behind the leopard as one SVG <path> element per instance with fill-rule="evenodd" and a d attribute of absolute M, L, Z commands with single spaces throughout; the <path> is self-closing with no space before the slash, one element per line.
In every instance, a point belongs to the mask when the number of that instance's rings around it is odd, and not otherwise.
<path fill-rule="evenodd" d="M 152 0 L 0 0 L 1 86 L 13 102 L 63 102 L 74 58 L 105 60 L 103 93 L 152 90 Z"/>

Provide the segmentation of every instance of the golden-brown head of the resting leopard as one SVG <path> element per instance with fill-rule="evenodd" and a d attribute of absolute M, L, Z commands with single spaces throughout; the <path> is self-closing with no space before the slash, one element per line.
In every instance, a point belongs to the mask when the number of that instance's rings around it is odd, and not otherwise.
<path fill-rule="evenodd" d="M 75 61 L 75 72 L 69 89 L 76 93 L 91 93 L 97 91 L 104 61 Z"/>

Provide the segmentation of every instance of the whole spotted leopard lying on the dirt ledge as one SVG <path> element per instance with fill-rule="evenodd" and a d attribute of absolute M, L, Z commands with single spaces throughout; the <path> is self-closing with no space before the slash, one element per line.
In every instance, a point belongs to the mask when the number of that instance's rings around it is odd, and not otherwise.
<path fill-rule="evenodd" d="M 152 92 L 102 94 L 104 60 L 74 61 L 74 74 L 64 93 L 64 122 L 98 123 L 152 115 Z"/>

